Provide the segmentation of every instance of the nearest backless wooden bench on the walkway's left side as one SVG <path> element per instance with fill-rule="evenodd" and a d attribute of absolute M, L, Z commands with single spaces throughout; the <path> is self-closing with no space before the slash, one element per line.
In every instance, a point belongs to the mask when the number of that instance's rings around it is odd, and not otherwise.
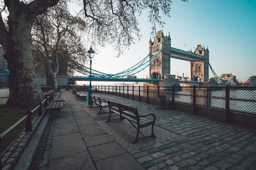
<path fill-rule="evenodd" d="M 49 112 L 50 117 L 57 117 L 57 116 L 61 115 L 61 109 L 63 108 L 64 102 L 65 102 L 65 100 L 58 98 L 57 100 L 49 103 L 46 110 L 47 110 L 47 112 Z"/>

